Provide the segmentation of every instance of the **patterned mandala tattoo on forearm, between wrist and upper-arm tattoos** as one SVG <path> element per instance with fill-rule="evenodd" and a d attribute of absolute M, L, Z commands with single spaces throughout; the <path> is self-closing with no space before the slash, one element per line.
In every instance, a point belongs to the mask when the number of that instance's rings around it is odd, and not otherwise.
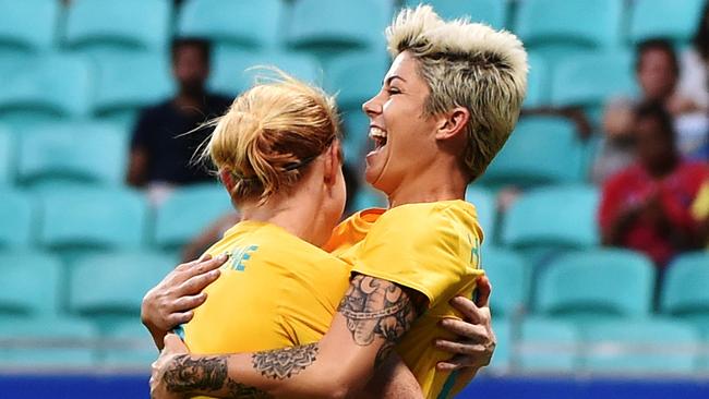
<path fill-rule="evenodd" d="M 317 343 L 302 347 L 275 349 L 256 352 L 251 356 L 253 367 L 264 377 L 273 379 L 290 378 L 315 362 Z"/>

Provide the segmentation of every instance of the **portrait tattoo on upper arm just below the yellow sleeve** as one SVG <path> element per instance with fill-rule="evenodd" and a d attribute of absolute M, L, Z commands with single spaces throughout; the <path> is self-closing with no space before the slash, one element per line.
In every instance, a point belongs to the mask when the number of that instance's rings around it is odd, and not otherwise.
<path fill-rule="evenodd" d="M 362 275 L 350 281 L 338 312 L 347 318 L 354 343 L 365 347 L 377 337 L 384 339 L 376 353 L 375 366 L 388 356 L 396 341 L 417 318 L 413 304 L 399 286 Z"/>

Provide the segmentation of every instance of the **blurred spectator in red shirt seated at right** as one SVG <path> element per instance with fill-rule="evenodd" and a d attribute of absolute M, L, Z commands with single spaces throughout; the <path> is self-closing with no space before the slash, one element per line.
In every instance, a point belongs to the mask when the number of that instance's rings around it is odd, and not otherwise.
<path fill-rule="evenodd" d="M 634 118 L 637 162 L 608 180 L 599 221 L 605 245 L 646 253 L 658 266 L 697 245 L 700 226 L 690 207 L 706 162 L 682 158 L 671 114 L 659 102 L 640 106 Z"/>

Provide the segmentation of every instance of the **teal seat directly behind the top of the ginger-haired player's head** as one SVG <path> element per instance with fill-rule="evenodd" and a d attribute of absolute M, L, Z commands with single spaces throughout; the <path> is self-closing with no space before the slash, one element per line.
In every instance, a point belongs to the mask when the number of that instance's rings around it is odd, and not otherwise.
<path fill-rule="evenodd" d="M 273 72 L 260 66 L 276 66 L 302 81 L 322 81 L 322 71 L 312 57 L 286 50 L 249 51 L 226 47 L 217 48 L 212 62 L 214 69 L 209 87 L 231 96 L 247 90 L 257 76 L 273 76 Z"/>

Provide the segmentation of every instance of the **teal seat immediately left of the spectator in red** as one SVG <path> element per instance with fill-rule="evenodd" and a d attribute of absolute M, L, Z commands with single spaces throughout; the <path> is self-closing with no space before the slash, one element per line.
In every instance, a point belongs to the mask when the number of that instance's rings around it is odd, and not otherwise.
<path fill-rule="evenodd" d="M 598 244 L 598 192 L 590 186 L 536 189 L 515 202 L 503 219 L 502 242 L 531 247 L 582 249 Z"/>

